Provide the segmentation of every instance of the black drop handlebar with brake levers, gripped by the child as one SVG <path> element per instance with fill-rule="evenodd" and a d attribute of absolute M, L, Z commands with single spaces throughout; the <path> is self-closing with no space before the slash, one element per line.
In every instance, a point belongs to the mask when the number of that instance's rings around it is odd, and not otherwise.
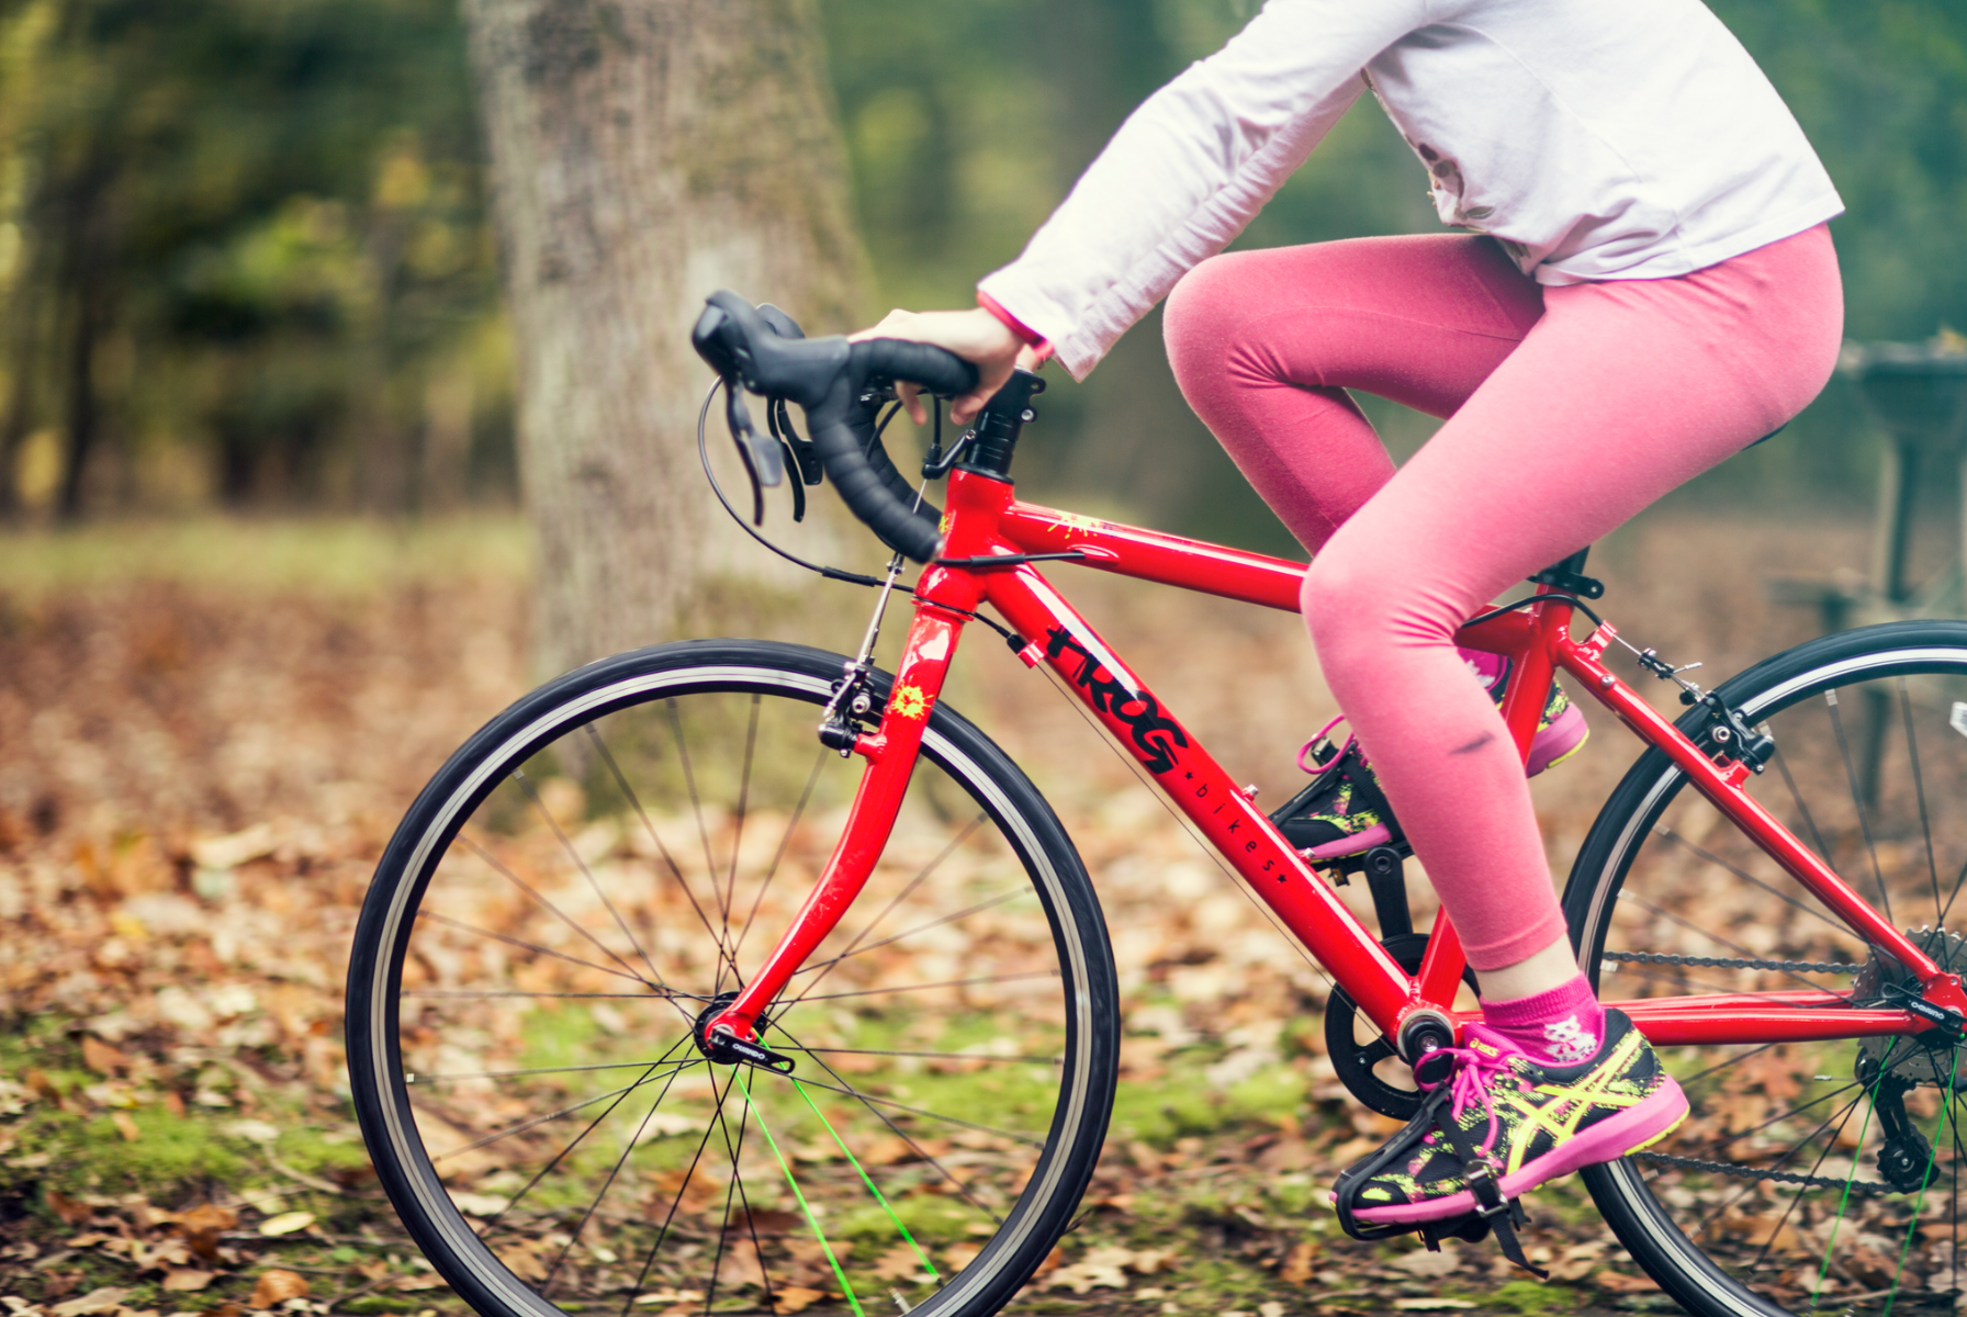
<path fill-rule="evenodd" d="M 917 507 L 915 487 L 895 470 L 875 434 L 869 387 L 897 379 L 954 397 L 976 387 L 976 366 L 952 352 L 901 338 L 848 342 L 803 338 L 777 307 L 753 307 L 730 291 L 704 299 L 690 344 L 728 391 L 726 419 L 753 480 L 779 484 L 779 446 L 751 429 L 738 387 L 789 399 L 806 413 L 810 442 L 846 505 L 881 541 L 917 562 L 942 550 L 940 511 Z M 795 476 L 797 480 L 797 476 Z"/>

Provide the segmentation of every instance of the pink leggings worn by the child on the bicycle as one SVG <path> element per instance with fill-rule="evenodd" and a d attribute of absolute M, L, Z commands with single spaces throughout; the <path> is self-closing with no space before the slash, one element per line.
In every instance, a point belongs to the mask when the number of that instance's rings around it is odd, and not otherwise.
<path fill-rule="evenodd" d="M 1823 226 L 1570 287 L 1489 238 L 1357 238 L 1218 256 L 1168 297 L 1174 377 L 1314 552 L 1320 666 L 1477 971 L 1548 947 L 1564 916 L 1456 627 L 1802 411 L 1841 330 Z M 1448 421 L 1397 472 L 1345 389 Z"/>

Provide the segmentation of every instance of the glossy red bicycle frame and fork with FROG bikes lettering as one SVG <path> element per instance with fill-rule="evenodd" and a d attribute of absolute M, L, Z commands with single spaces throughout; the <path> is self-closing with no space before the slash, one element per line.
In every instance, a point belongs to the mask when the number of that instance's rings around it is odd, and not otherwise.
<path fill-rule="evenodd" d="M 944 535 L 948 558 L 968 562 L 930 566 L 917 582 L 915 621 L 879 729 L 862 735 L 854 747 L 867 759 L 867 771 L 846 833 L 791 928 L 736 1001 L 710 1022 L 712 1030 L 730 1030 L 753 1042 L 755 1024 L 773 999 L 854 904 L 887 845 L 964 623 L 982 603 L 995 607 L 1025 639 L 1019 658 L 1029 666 L 1052 666 L 1381 1030 L 1399 1036 L 1401 1024 L 1420 1010 L 1473 1018 L 1452 1010 L 1463 955 L 1448 914 L 1434 922 L 1420 973 L 1408 975 L 1340 900 L 1326 873 L 1290 847 L 1235 786 L 1235 778 L 1052 590 L 1029 556 L 1072 554 L 1103 572 L 1286 611 L 1298 609 L 1304 564 L 1019 503 L 1011 497 L 1009 480 L 966 470 L 950 474 Z M 1003 564 L 989 564 L 989 558 L 1003 558 Z M 1540 586 L 1538 594 L 1550 594 L 1550 588 Z M 1613 627 L 1601 625 L 1583 641 L 1574 641 L 1572 613 L 1570 600 L 1552 596 L 1463 627 L 1456 637 L 1463 647 L 1513 660 L 1503 717 L 1519 753 L 1524 759 L 1530 753 L 1552 676 L 1560 668 L 1570 672 L 1580 690 L 1617 714 L 1640 741 L 1664 751 L 1696 790 L 1855 934 L 1904 965 L 1924 985 L 1928 1008 L 1967 1010 L 1959 975 L 1943 973 L 1743 790 L 1749 765 L 1701 751 L 1605 668 L 1601 658 Z M 1918 1034 L 1936 1026 L 1906 1008 L 1800 1008 L 1841 1006 L 1845 1001 L 1827 991 L 1780 991 L 1656 997 L 1619 1006 L 1660 1046 Z"/>

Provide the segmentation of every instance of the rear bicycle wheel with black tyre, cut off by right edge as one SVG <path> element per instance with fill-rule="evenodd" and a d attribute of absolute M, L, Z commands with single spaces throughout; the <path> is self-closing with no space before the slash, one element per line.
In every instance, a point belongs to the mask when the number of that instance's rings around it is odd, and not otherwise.
<path fill-rule="evenodd" d="M 1735 676 L 1721 696 L 1776 737 L 1774 763 L 1751 786 L 1757 798 L 1861 896 L 1888 904 L 1894 924 L 1941 928 L 1967 879 L 1967 625 L 1890 623 L 1823 637 Z M 1690 714 L 1682 729 L 1698 723 Z M 1566 918 L 1601 997 L 1617 1004 L 1808 983 L 1882 1001 L 1896 967 L 1833 926 L 1802 885 L 1684 784 L 1666 755 L 1646 751 L 1572 869 Z M 1967 965 L 1955 936 L 1922 940 L 1943 965 Z M 1788 969 L 1648 963 L 1635 953 Z M 1963 1288 L 1955 1268 L 1967 1262 L 1967 1154 L 1957 1132 L 1967 1113 L 1951 1075 L 1967 1079 L 1967 1056 L 1843 1040 L 1668 1048 L 1662 1059 L 1688 1089 L 1690 1120 L 1652 1150 L 1587 1170 L 1585 1183 L 1627 1250 L 1690 1313 L 1953 1311 Z M 1916 1142 L 1880 1132 L 1894 1093 L 1932 1148 L 1918 1172 L 1924 1193 L 1908 1191 L 1904 1170 L 1894 1183 L 1877 1160 L 1880 1150 L 1890 1156 L 1890 1142 L 1920 1162 Z M 1930 1229 L 1914 1232 L 1916 1221 Z"/>

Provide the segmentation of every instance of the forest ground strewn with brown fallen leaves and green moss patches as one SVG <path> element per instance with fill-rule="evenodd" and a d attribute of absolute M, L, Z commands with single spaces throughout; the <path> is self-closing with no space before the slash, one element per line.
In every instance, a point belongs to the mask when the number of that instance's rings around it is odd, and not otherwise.
<path fill-rule="evenodd" d="M 1719 678 L 1814 633 L 1770 578 L 1849 574 L 1863 550 L 1857 519 L 1682 513 L 1627 529 L 1593 570 L 1627 637 Z M 340 985 L 397 816 L 529 684 L 521 525 L 108 527 L 0 541 L 0 1301 L 460 1311 L 368 1172 Z M 1218 759 L 1267 802 L 1294 790 L 1330 698 L 1292 615 L 1058 580 Z M 869 596 L 826 590 L 824 617 L 769 629 L 852 645 Z M 1013 1311 L 1672 1307 L 1576 1189 L 1540 1195 L 1528 1238 L 1550 1284 L 1489 1244 L 1345 1240 L 1324 1189 L 1391 1122 L 1322 1056 L 1318 973 L 1037 676 L 999 645 L 958 668 L 948 700 L 1076 837 L 1123 981 L 1178 1002 L 1131 1026 L 1125 1056 L 1168 1118 L 1115 1128 L 1064 1266 Z M 1631 761 L 1591 714 L 1593 747 L 1536 784 L 1560 875 Z M 1257 961 L 1273 971 L 1243 973 Z M 1294 1079 L 1231 1101 L 1265 1065 Z"/>

